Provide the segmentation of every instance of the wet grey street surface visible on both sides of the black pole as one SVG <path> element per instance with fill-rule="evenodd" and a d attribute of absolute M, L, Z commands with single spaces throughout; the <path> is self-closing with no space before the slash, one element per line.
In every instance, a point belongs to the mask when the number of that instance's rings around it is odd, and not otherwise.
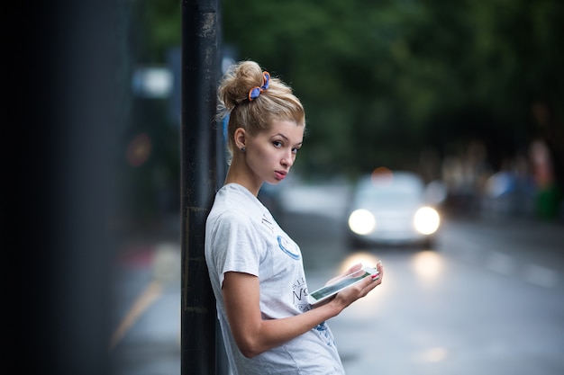
<path fill-rule="evenodd" d="M 348 374 L 564 373 L 561 223 L 443 218 L 436 248 L 352 251 L 340 197 L 292 187 L 277 219 L 310 290 L 350 262 L 384 263 L 383 284 L 328 322 Z M 179 246 L 138 250 L 116 264 L 114 371 L 179 374 Z"/>

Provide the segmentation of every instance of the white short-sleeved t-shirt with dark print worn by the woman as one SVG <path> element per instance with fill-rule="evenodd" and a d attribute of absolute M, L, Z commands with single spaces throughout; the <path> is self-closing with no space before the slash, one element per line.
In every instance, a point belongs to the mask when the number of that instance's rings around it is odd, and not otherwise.
<path fill-rule="evenodd" d="M 250 359 L 235 344 L 223 302 L 225 272 L 259 277 L 260 312 L 265 320 L 292 317 L 312 308 L 299 246 L 257 197 L 239 184 L 229 183 L 215 195 L 205 227 L 205 261 L 234 375 L 344 374 L 332 332 L 324 322 Z"/>

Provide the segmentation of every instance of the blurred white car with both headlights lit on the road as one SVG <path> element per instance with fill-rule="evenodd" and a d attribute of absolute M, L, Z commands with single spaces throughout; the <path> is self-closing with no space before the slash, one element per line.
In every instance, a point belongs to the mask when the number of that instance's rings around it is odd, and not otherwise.
<path fill-rule="evenodd" d="M 353 189 L 347 220 L 352 246 L 433 246 L 441 217 L 421 177 L 389 169 L 377 172 Z"/>

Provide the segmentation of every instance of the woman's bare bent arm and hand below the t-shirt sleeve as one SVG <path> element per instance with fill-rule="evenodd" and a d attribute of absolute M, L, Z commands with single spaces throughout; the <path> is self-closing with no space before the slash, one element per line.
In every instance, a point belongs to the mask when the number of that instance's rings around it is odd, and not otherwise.
<path fill-rule="evenodd" d="M 383 270 L 380 264 L 378 271 L 378 280 L 373 281 L 368 277 L 367 280 L 342 290 L 323 306 L 294 317 L 272 320 L 263 320 L 260 314 L 259 278 L 249 273 L 226 272 L 223 280 L 223 299 L 239 350 L 245 357 L 254 357 L 339 315 L 344 308 L 366 296 L 382 282 Z"/>

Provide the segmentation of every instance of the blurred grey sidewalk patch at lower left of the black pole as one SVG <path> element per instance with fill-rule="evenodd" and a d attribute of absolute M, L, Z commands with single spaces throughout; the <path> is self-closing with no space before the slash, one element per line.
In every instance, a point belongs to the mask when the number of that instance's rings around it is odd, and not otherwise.
<path fill-rule="evenodd" d="M 116 259 L 114 375 L 180 374 L 180 246 L 130 245 Z"/>

